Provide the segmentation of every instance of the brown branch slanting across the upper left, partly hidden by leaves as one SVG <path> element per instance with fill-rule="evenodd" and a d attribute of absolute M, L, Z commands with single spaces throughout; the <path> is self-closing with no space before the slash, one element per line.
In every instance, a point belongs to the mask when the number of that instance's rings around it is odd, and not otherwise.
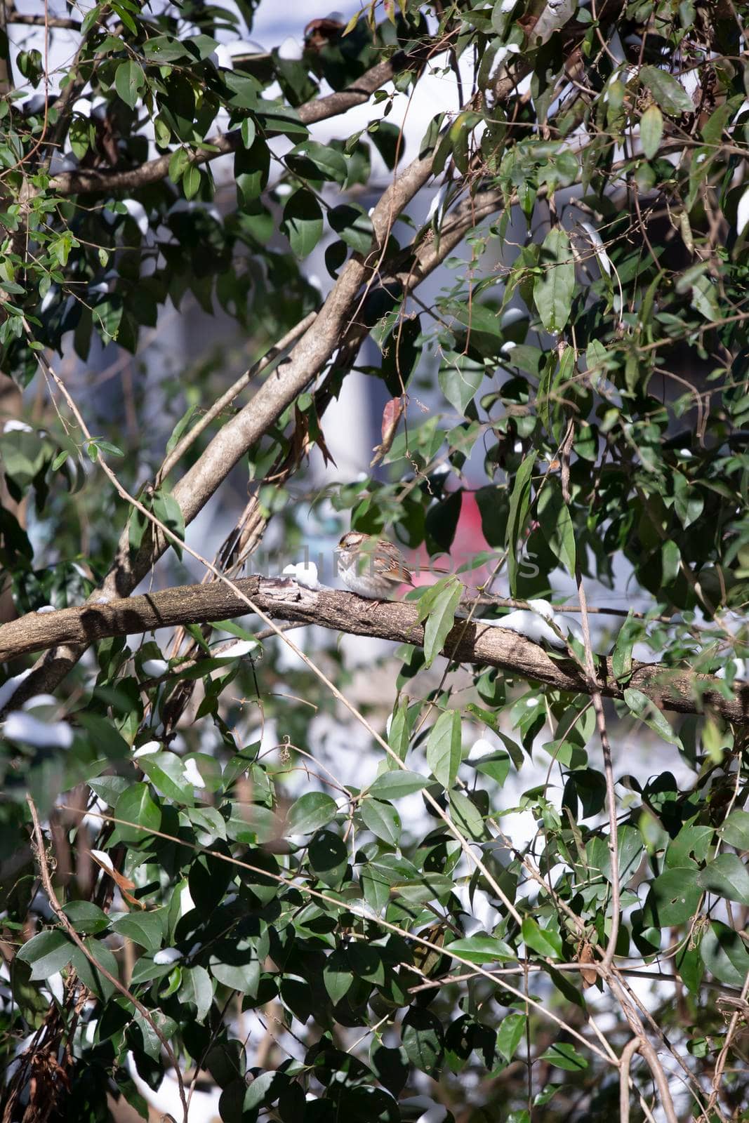
<path fill-rule="evenodd" d="M 298 109 L 299 119 L 303 125 L 314 125 L 316 121 L 325 121 L 329 117 L 338 117 L 355 106 L 362 106 L 368 101 L 375 90 L 391 82 L 395 74 L 405 70 L 415 70 L 421 66 L 429 53 L 433 52 L 433 46 L 422 46 L 411 54 L 399 51 L 392 58 L 377 63 L 365 74 L 353 82 L 345 90 L 338 90 Z M 191 163 L 195 165 L 208 164 L 218 159 L 219 156 L 228 156 L 243 147 L 241 133 L 232 129 L 230 133 L 219 133 L 213 137 L 208 137 L 207 145 L 212 146 L 212 150 L 195 150 L 191 154 Z M 137 191 L 149 183 L 157 183 L 168 175 L 170 161 L 174 154 L 165 152 L 155 159 L 149 159 L 138 167 L 125 171 L 107 171 L 106 168 L 79 168 L 75 172 L 61 172 L 53 176 L 49 190 L 56 191 L 61 195 L 72 195 L 85 192 L 86 194 L 98 194 L 110 191 Z"/>

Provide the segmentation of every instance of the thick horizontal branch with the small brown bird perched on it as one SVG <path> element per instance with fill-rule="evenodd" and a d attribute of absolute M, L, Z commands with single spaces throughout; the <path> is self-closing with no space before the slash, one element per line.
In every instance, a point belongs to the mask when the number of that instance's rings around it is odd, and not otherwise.
<path fill-rule="evenodd" d="M 274 620 L 319 624 L 351 636 L 372 636 L 417 647 L 423 643 L 423 628 L 417 623 L 414 604 L 400 601 L 376 604 L 353 593 L 312 592 L 293 581 L 278 578 L 245 577 L 235 584 Z M 88 646 L 110 636 L 229 620 L 246 613 L 247 604 L 222 582 L 181 585 L 145 596 L 61 609 L 54 613 L 28 613 L 0 628 L 0 660 L 61 645 Z M 572 660 L 552 658 L 523 636 L 481 621 L 458 620 L 445 641 L 444 654 L 459 663 L 499 667 L 519 678 L 575 694 L 591 694 L 593 688 L 585 673 Z M 736 697 L 727 699 L 721 692 L 724 684 L 711 675 L 657 663 L 633 663 L 627 682 L 618 683 L 611 660 L 603 659 L 595 685 L 606 697 L 623 699 L 624 686 L 633 687 L 663 710 L 702 713 L 709 709 L 727 721 L 749 724 L 749 685 L 736 687 Z"/>

